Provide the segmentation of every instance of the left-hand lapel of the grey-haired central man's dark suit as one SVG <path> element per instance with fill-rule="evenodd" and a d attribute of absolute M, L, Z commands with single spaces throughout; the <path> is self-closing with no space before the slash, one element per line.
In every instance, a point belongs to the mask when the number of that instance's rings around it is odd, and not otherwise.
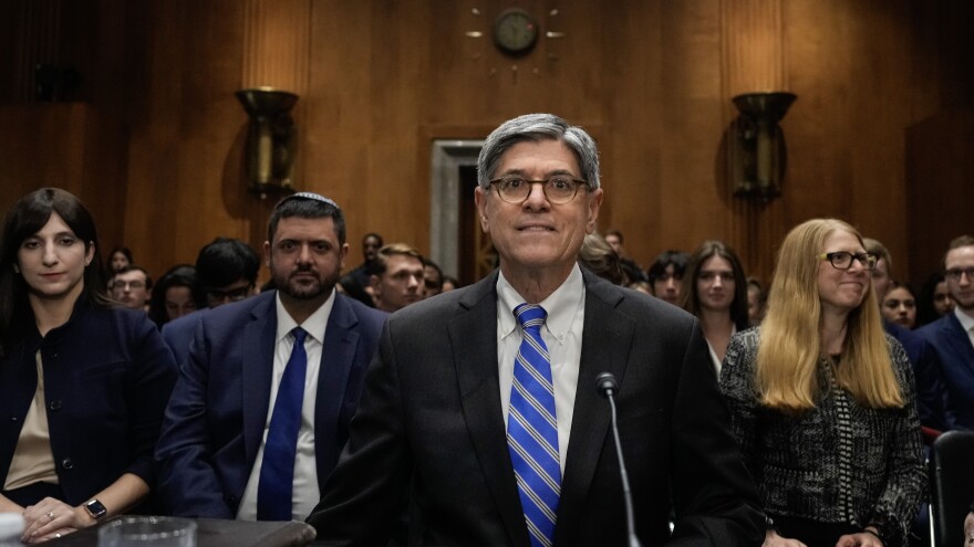
<path fill-rule="evenodd" d="M 507 451 L 497 374 L 497 272 L 470 287 L 460 299 L 466 313 L 449 323 L 464 420 L 494 505 L 508 536 L 528 545 L 520 497 Z"/>

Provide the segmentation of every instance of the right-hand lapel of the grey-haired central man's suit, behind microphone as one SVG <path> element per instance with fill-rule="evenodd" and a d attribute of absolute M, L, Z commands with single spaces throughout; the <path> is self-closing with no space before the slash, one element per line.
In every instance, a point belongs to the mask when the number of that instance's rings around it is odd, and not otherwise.
<path fill-rule="evenodd" d="M 571 543 L 574 537 L 573 526 L 581 520 L 595 467 L 604 444 L 610 442 L 609 402 L 598 393 L 595 377 L 611 372 L 619 381 L 619 389 L 625 389 L 625 365 L 635 332 L 634 322 L 615 312 L 623 293 L 586 270 L 582 273 L 586 280 L 586 322 L 571 434 L 561 480 L 556 544 Z"/>

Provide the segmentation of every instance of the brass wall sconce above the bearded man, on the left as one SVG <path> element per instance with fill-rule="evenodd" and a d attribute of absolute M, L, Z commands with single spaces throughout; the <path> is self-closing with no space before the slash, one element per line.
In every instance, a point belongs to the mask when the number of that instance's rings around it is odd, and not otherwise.
<path fill-rule="evenodd" d="M 248 189 L 261 199 L 292 192 L 298 128 L 290 112 L 298 95 L 272 87 L 240 90 L 236 95 L 250 115 L 245 151 Z"/>

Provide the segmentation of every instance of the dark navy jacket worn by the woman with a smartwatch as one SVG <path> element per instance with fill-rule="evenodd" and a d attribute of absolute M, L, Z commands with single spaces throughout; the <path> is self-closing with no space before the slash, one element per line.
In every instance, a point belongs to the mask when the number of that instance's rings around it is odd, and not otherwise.
<path fill-rule="evenodd" d="M 154 487 L 153 449 L 176 366 L 145 313 L 101 309 L 80 298 L 71 319 L 43 338 L 33 318 L 13 338 L 0 361 L 0 476 L 10 470 L 37 391 L 40 350 L 63 501 L 82 504 L 123 473 Z"/>

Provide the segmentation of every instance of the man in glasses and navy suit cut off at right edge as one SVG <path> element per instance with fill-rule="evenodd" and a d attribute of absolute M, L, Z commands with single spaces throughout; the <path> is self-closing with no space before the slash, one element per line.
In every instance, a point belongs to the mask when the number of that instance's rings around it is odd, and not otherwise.
<path fill-rule="evenodd" d="M 940 357 L 951 425 L 974 429 L 974 238 L 961 235 L 951 242 L 944 269 L 954 311 L 918 333 Z"/>

